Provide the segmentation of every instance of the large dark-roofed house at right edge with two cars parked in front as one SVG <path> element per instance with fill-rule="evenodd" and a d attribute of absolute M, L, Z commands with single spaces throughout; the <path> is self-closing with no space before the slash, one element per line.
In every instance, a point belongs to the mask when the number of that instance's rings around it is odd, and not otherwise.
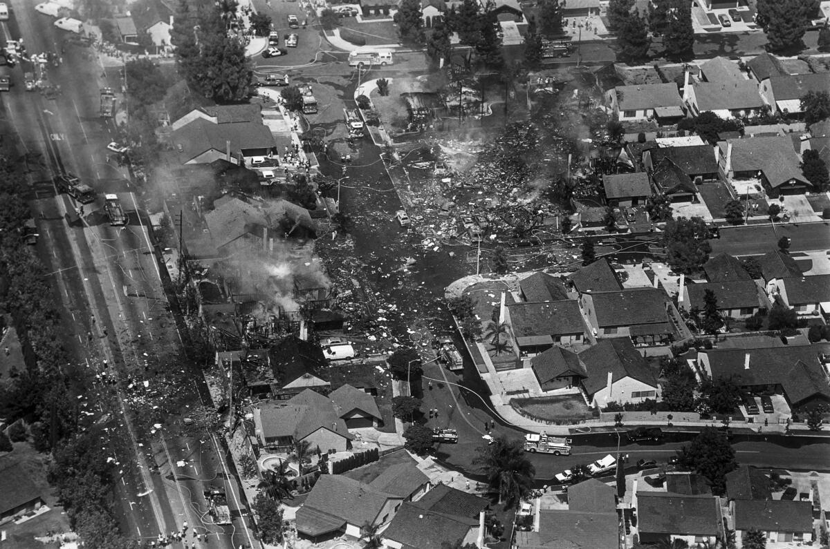
<path fill-rule="evenodd" d="M 808 411 L 830 403 L 830 343 L 782 347 L 707 349 L 696 367 L 713 380 L 735 379 L 748 391 L 782 394 L 793 409 Z"/>

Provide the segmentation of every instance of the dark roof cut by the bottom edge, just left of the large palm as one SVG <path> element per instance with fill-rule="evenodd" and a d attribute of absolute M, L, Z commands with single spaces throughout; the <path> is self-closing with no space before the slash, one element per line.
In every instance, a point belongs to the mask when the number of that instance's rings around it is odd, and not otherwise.
<path fill-rule="evenodd" d="M 437 513 L 404 503 L 392 519 L 382 537 L 402 543 L 404 547 L 441 549 L 444 542 L 450 545 L 466 537 L 470 529 L 478 526 L 478 519 Z"/>

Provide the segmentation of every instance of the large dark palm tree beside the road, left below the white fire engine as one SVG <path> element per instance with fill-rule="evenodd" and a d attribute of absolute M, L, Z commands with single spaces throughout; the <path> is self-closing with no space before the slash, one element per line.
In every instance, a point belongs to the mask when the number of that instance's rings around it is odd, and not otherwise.
<path fill-rule="evenodd" d="M 525 457 L 521 440 L 500 436 L 490 445 L 476 449 L 478 457 L 473 464 L 481 467 L 491 491 L 499 494 L 499 503 L 513 508 L 527 497 L 533 487 L 536 469 Z"/>

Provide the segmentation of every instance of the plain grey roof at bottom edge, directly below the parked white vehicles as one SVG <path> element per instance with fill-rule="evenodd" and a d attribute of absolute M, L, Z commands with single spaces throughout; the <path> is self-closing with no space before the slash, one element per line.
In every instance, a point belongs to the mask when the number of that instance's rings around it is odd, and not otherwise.
<path fill-rule="evenodd" d="M 516 532 L 520 549 L 618 549 L 617 513 L 543 509 L 539 532 Z"/>

